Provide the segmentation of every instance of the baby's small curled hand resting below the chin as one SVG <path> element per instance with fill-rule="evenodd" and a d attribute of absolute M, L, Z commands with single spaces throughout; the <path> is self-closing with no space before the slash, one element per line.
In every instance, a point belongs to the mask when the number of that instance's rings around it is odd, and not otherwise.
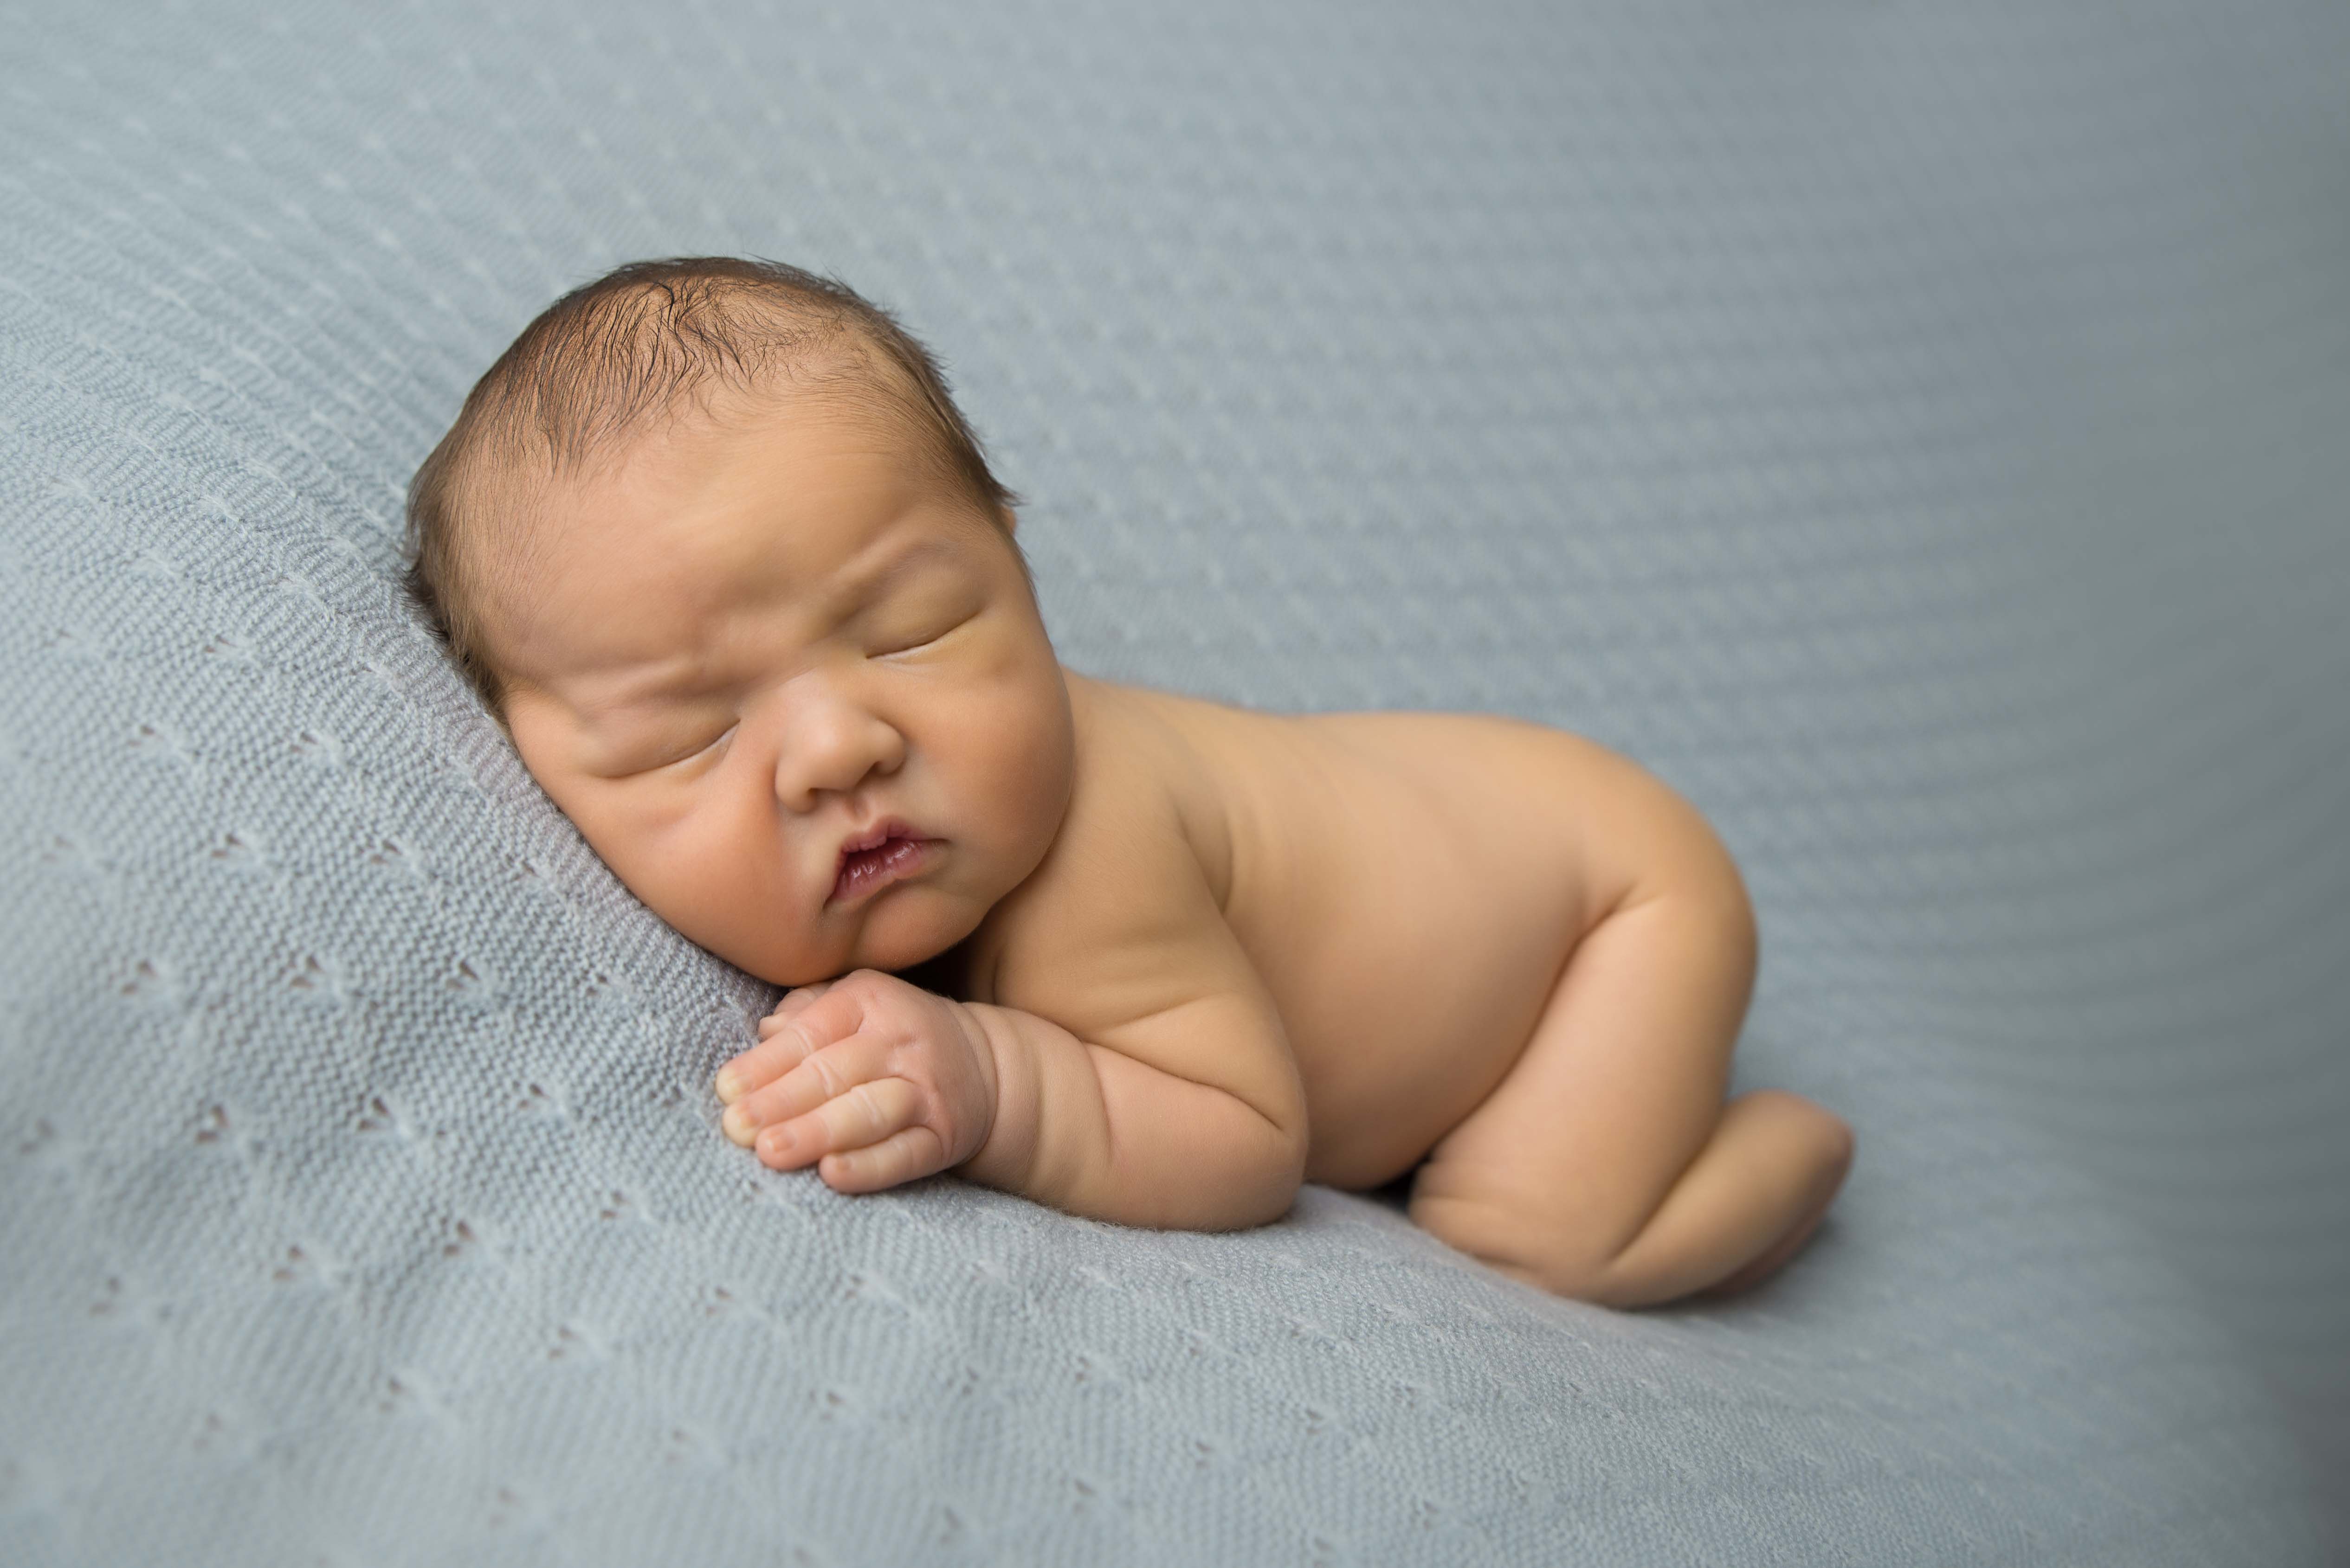
<path fill-rule="evenodd" d="M 996 1060 L 961 1004 L 879 969 L 801 985 L 759 1044 L 717 1074 L 726 1135 L 778 1171 L 815 1164 L 834 1192 L 879 1192 L 980 1145 Z"/>

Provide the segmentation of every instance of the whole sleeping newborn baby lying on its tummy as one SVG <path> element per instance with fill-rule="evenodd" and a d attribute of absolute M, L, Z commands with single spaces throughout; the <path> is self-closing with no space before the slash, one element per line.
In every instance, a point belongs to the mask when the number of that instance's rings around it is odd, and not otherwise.
<path fill-rule="evenodd" d="M 1723 1103 L 1739 872 L 1516 719 L 1267 715 L 1058 663 L 1008 491 L 898 324 L 773 263 L 637 263 L 482 376 L 411 588 L 606 865 L 792 987 L 726 1135 L 839 1192 L 954 1171 L 1222 1229 L 1410 1215 L 1610 1305 L 1748 1286 L 1852 1133 Z"/>

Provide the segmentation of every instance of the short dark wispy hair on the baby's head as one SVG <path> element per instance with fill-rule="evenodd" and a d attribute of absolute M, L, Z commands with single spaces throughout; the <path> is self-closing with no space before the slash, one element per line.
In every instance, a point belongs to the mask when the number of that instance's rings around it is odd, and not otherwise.
<path fill-rule="evenodd" d="M 931 353 L 848 284 L 740 256 L 630 261 L 524 327 L 409 482 L 409 595 L 491 712 L 505 691 L 482 625 L 484 491 L 531 465 L 590 468 L 618 437 L 712 390 L 787 381 L 905 421 L 940 477 L 999 527 L 1018 503 Z M 1013 552 L 1027 574 L 1018 543 Z"/>

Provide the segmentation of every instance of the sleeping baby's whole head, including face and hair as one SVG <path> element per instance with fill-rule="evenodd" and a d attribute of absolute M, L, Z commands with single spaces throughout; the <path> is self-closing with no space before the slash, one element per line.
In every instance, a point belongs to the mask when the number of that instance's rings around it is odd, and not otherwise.
<path fill-rule="evenodd" d="M 1069 691 L 1013 522 L 888 315 L 651 261 L 472 388 L 409 487 L 409 583 L 604 863 L 804 985 L 945 952 L 1060 830 Z"/>

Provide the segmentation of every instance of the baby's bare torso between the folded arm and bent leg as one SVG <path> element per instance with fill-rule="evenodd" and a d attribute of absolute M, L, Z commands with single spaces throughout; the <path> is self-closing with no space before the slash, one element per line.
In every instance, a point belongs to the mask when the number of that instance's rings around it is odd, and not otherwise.
<path fill-rule="evenodd" d="M 1365 1187 L 1410 1168 L 1518 1058 L 1607 896 L 1567 809 L 1582 743 L 1483 715 L 1267 715 L 1076 672 L 1069 693 L 1079 788 L 1090 773 L 1107 792 L 1173 795 L 1281 1011 L 1307 1091 L 1309 1180 Z M 1149 766 L 1088 769 L 1093 748 Z M 1065 832 L 1140 820 L 1112 804 L 1072 811 Z M 1062 844 L 1039 875 L 1093 863 Z M 1050 886 L 1032 893 L 1015 900 L 1029 917 L 1053 903 Z M 980 936 L 1006 961 L 1022 950 Z M 999 969 L 989 990 L 1013 999 L 1020 980 Z"/>

